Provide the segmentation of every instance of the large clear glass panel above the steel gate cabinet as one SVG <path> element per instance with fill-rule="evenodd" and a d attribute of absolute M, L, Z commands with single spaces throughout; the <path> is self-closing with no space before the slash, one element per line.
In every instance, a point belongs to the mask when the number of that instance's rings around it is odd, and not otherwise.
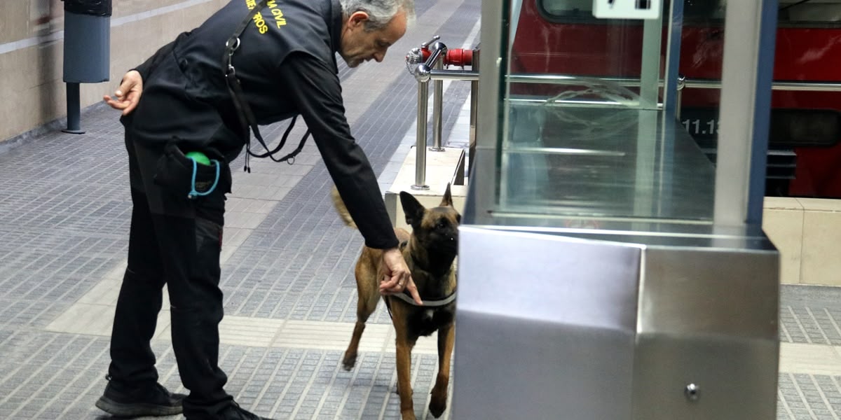
<path fill-rule="evenodd" d="M 596 19 L 592 4 L 522 4 L 503 55 L 495 215 L 548 217 L 566 227 L 710 223 L 711 162 L 680 123 L 664 118 L 656 103 L 662 96 L 654 103 L 640 97 L 644 46 L 655 43 L 649 71 L 662 74 L 668 28 L 657 20 Z M 645 35 L 647 22 L 657 25 L 653 36 Z"/>

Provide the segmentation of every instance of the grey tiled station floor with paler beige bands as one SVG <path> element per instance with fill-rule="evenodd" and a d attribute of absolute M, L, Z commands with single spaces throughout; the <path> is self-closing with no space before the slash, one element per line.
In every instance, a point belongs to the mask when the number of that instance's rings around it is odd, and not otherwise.
<path fill-rule="evenodd" d="M 431 34 L 451 48 L 479 42 L 479 0 L 417 0 L 417 7 L 416 24 L 383 63 L 341 69 L 348 118 L 383 190 L 415 143 L 416 82 L 405 51 Z M 466 147 L 469 85 L 447 82 L 445 91 L 447 145 Z M 109 418 L 93 403 L 106 384 L 131 202 L 117 113 L 87 108 L 82 129 L 87 133 L 44 129 L 13 147 L 0 144 L 0 418 Z M 263 133 L 278 139 L 283 129 Z M 362 239 L 336 217 L 315 145 L 294 165 L 251 165 L 251 174 L 232 165 L 225 223 L 226 390 L 242 407 L 278 419 L 399 418 L 394 336 L 382 305 L 357 367 L 341 369 Z M 184 391 L 164 306 L 153 340 L 157 369 L 165 386 Z M 841 291 L 783 286 L 778 418 L 841 417 L 839 325 Z M 431 418 L 434 339 L 421 339 L 414 354 L 415 412 Z"/>

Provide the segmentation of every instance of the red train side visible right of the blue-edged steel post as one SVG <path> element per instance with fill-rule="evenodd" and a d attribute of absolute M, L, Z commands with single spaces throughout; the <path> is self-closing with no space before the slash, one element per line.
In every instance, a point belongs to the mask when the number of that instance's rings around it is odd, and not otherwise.
<path fill-rule="evenodd" d="M 841 82 L 841 1 L 781 0 L 774 77 Z M 767 195 L 841 198 L 841 89 L 776 91 L 771 102 Z"/>

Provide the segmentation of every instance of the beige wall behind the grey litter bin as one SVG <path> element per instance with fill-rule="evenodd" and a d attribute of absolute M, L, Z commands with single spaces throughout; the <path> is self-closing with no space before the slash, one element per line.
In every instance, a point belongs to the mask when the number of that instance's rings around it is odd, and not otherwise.
<path fill-rule="evenodd" d="M 178 33 L 201 24 L 225 3 L 227 0 L 114 0 L 111 81 L 82 84 L 82 108 L 114 92 L 126 70 Z M 0 0 L 0 142 L 66 118 L 66 91 L 61 80 L 63 38 L 61 0 Z"/>

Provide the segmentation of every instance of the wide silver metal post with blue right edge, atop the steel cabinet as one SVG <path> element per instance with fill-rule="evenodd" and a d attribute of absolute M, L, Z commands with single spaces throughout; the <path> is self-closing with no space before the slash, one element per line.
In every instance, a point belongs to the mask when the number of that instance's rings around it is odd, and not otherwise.
<path fill-rule="evenodd" d="M 727 2 L 713 223 L 761 225 L 776 0 Z"/>

